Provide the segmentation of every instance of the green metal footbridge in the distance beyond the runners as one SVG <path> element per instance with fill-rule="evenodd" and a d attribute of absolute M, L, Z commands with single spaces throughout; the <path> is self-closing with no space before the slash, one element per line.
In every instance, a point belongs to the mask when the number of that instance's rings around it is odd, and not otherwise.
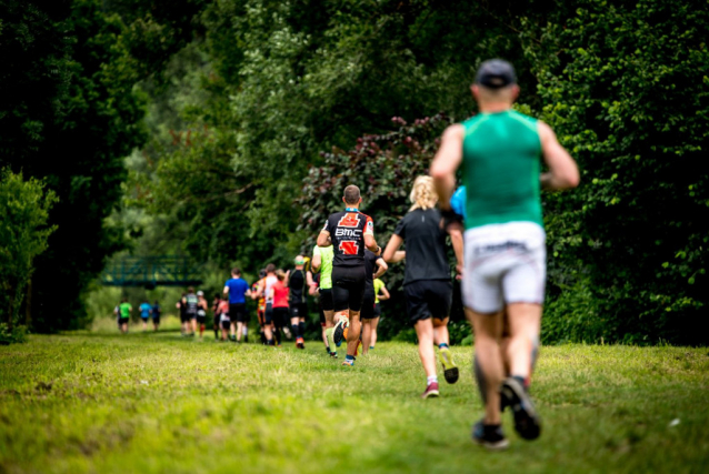
<path fill-rule="evenodd" d="M 200 266 L 183 256 L 124 256 L 101 273 L 106 286 L 196 286 Z"/>

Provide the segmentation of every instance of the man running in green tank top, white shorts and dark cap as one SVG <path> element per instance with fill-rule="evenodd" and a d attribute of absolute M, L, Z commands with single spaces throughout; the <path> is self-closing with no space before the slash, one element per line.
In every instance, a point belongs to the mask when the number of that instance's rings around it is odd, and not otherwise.
<path fill-rule="evenodd" d="M 486 413 L 476 423 L 472 437 L 490 450 L 501 450 L 508 441 L 501 428 L 500 403 L 512 409 L 521 437 L 533 440 L 541 432 L 528 394 L 546 282 L 540 188 L 575 188 L 579 172 L 549 125 L 512 110 L 519 87 L 510 63 L 483 62 L 472 94 L 480 113 L 446 130 L 430 171 L 441 208 L 450 213 L 456 171 L 463 165 L 462 294 L 486 390 Z M 540 173 L 540 158 L 548 172 Z M 508 377 L 499 343 L 503 311 L 510 326 L 506 352 L 512 375 Z"/>

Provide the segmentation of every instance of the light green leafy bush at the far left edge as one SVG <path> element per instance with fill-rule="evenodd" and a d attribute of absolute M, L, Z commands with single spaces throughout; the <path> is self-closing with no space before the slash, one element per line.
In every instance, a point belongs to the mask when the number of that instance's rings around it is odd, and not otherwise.
<path fill-rule="evenodd" d="M 51 190 L 33 178 L 0 171 L 0 321 L 8 330 L 18 321 L 34 258 L 47 250 L 47 240 L 56 226 L 47 225 L 49 211 L 57 202 Z"/>

